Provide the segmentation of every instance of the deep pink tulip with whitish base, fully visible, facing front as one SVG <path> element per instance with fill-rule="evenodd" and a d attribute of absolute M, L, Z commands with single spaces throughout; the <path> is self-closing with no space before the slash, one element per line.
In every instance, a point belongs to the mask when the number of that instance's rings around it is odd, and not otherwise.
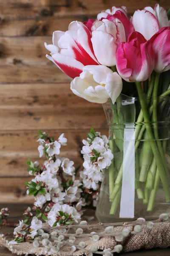
<path fill-rule="evenodd" d="M 132 32 L 127 43 L 120 43 L 116 53 L 116 67 L 119 75 L 128 82 L 145 81 L 155 65 L 150 41 L 139 32 Z"/>

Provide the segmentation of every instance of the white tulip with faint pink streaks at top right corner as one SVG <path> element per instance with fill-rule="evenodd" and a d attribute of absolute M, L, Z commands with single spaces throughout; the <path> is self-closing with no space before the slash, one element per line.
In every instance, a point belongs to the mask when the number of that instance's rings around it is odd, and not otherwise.
<path fill-rule="evenodd" d="M 154 9 L 147 6 L 143 10 L 134 12 L 132 24 L 135 31 L 140 32 L 144 38 L 149 40 L 159 29 L 169 26 L 167 11 L 158 3 Z"/>

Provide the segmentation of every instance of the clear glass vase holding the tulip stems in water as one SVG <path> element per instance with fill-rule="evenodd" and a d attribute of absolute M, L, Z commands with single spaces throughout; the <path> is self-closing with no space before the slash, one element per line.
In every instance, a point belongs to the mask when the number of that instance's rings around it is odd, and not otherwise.
<path fill-rule="evenodd" d="M 170 214 L 170 97 L 150 97 L 145 105 L 148 122 L 138 98 L 120 95 L 114 105 L 103 104 L 114 158 L 103 170 L 96 208 L 102 223 Z"/>

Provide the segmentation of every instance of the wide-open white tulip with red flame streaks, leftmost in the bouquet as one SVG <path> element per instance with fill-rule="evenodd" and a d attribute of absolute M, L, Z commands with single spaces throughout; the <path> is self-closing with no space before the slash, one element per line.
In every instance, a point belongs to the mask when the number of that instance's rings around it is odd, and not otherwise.
<path fill-rule="evenodd" d="M 46 57 L 71 78 L 79 76 L 84 66 L 99 64 L 94 55 L 91 32 L 82 22 L 71 22 L 66 32 L 54 31 L 53 44 L 45 43 L 45 47 L 51 52 L 51 56 Z"/>

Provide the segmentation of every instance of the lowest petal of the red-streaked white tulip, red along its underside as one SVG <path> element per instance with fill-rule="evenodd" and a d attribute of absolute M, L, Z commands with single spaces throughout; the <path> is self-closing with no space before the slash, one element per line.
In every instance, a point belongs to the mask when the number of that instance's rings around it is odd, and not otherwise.
<path fill-rule="evenodd" d="M 79 76 L 80 73 L 82 73 L 84 65 L 74 58 L 70 58 L 59 53 L 51 53 L 51 56 L 46 55 L 46 57 L 53 61 L 57 67 L 62 70 L 62 72 L 71 78 L 75 78 Z"/>

